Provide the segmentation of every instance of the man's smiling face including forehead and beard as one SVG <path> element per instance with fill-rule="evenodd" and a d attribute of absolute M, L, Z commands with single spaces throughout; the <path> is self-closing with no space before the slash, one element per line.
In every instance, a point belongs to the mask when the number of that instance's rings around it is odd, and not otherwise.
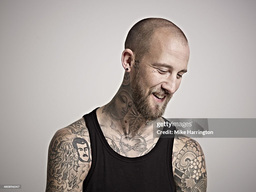
<path fill-rule="evenodd" d="M 179 88 L 189 59 L 188 46 L 166 33 L 156 32 L 152 42 L 150 50 L 140 60 L 139 69 L 131 73 L 133 102 L 147 120 L 163 115 Z"/>

